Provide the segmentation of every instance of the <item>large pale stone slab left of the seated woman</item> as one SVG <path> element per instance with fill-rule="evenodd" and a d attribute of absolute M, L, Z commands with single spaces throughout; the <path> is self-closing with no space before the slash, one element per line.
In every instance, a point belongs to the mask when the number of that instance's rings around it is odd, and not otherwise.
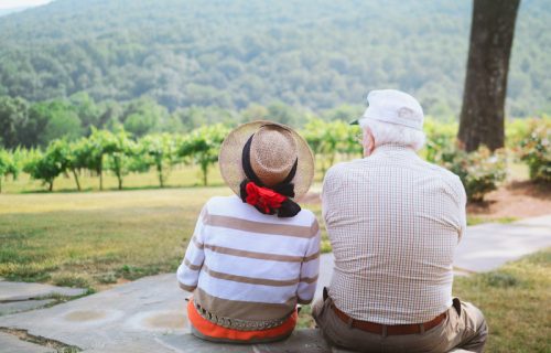
<path fill-rule="evenodd" d="M 121 346 L 130 346 L 128 352 L 140 347 L 171 352 L 154 339 L 187 332 L 186 296 L 175 274 L 166 274 L 52 308 L 0 317 L 0 327 L 29 330 L 32 335 L 97 352 L 121 352 Z"/>

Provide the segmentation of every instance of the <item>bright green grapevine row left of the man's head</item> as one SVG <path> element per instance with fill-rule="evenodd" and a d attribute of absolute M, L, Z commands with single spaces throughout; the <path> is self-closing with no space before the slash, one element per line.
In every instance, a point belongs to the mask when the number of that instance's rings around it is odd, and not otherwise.
<path fill-rule="evenodd" d="M 230 127 L 216 124 L 187 133 L 160 132 L 134 138 L 122 125 L 114 131 L 90 129 L 88 137 L 55 139 L 42 149 L 0 148 L 0 191 L 2 179 L 17 179 L 21 172 L 43 181 L 48 191 L 53 191 L 57 176 L 72 175 L 80 191 L 79 175 L 84 171 L 98 178 L 99 190 L 104 190 L 105 172 L 110 172 L 121 190 L 127 174 L 154 170 L 159 186 L 164 188 L 172 168 L 181 163 L 198 165 L 201 182 L 207 185 L 208 169 L 218 161 L 219 147 Z M 361 147 L 355 139 L 358 132 L 357 127 L 342 120 L 328 122 L 320 118 L 310 118 L 302 131 L 322 162 L 322 171 L 337 154 L 359 156 Z"/>

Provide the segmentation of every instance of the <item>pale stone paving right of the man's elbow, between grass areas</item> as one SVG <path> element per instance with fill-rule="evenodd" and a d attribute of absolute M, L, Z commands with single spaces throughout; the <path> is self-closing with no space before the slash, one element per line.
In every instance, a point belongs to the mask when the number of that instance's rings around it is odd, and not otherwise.
<path fill-rule="evenodd" d="M 454 266 L 468 271 L 489 271 L 550 246 L 551 215 L 471 226 L 457 246 Z"/>

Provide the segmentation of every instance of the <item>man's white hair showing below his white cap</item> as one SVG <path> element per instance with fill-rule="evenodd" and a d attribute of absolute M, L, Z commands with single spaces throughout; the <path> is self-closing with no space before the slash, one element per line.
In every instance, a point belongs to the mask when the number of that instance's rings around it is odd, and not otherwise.
<path fill-rule="evenodd" d="M 364 119 L 360 125 L 364 130 L 369 129 L 371 131 L 376 148 L 381 145 L 396 143 L 408 146 L 419 151 L 424 146 L 424 132 L 407 126 L 374 119 Z"/>

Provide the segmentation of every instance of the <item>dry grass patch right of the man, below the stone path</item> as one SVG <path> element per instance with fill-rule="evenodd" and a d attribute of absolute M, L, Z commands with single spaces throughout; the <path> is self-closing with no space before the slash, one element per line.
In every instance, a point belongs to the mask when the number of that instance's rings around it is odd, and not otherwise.
<path fill-rule="evenodd" d="M 456 277 L 454 296 L 473 302 L 486 317 L 486 352 L 551 352 L 551 248 L 496 271 Z M 301 310 L 300 328 L 314 327 L 310 312 L 310 306 Z"/>

